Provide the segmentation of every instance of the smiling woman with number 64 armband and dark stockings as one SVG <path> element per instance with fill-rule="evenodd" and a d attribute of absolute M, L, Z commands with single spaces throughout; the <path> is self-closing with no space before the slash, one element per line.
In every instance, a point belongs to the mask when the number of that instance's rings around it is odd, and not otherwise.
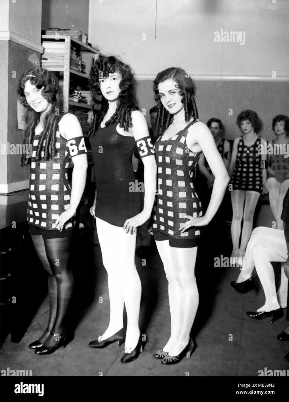
<path fill-rule="evenodd" d="M 24 144 L 32 152 L 22 157 L 22 165 L 30 165 L 29 230 L 48 274 L 50 305 L 47 329 L 29 347 L 38 355 L 47 355 L 71 340 L 65 333 L 73 287 L 69 256 L 87 157 L 79 121 L 69 113 L 62 115 L 62 90 L 53 73 L 43 68 L 28 70 L 20 78 L 18 92 L 26 108 Z M 67 169 L 71 159 L 70 186 Z"/>

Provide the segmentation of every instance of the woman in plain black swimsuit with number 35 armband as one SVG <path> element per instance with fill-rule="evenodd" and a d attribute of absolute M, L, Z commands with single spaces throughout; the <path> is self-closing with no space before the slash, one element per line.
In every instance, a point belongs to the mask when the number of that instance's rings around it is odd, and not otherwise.
<path fill-rule="evenodd" d="M 125 338 L 121 362 L 128 363 L 138 357 L 145 340 L 138 327 L 141 284 L 134 254 L 137 228 L 149 219 L 153 209 L 155 152 L 145 117 L 138 111 L 136 81 L 130 67 L 114 56 L 102 56 L 90 76 L 94 100 L 90 141 L 96 177 L 96 196 L 90 212 L 96 217 L 102 262 L 108 273 L 110 322 L 89 346 L 106 347 L 116 340 L 120 345 Z M 145 167 L 143 209 L 141 193 L 134 187 L 135 145 Z"/>

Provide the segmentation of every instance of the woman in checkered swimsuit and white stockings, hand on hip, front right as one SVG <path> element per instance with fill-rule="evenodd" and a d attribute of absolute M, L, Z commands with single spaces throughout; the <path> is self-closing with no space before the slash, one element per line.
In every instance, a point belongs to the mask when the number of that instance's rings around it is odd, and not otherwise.
<path fill-rule="evenodd" d="M 186 72 L 181 68 L 160 72 L 154 91 L 161 137 L 155 143 L 158 195 L 153 234 L 169 283 L 171 312 L 171 336 L 154 357 L 175 364 L 184 355 L 189 357 L 194 347 L 190 331 L 199 300 L 194 269 L 200 228 L 218 210 L 229 177 L 210 130 L 198 120 L 195 86 Z M 202 152 L 215 176 L 204 216 L 192 180 Z"/>

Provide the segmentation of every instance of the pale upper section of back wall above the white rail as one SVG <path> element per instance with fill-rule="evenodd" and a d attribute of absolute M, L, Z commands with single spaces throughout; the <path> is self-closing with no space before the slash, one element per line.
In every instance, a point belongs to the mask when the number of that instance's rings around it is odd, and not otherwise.
<path fill-rule="evenodd" d="M 90 0 L 89 41 L 138 76 L 180 66 L 192 76 L 289 76 L 289 0 Z M 214 41 L 244 31 L 245 44 Z M 142 34 L 146 40 L 142 40 Z"/>

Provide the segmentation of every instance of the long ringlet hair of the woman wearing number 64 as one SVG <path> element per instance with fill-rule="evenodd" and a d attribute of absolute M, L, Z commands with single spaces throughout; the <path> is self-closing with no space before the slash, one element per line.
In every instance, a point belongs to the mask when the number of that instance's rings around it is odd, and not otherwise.
<path fill-rule="evenodd" d="M 23 144 L 32 146 L 33 138 L 35 135 L 35 127 L 39 124 L 41 113 L 37 113 L 32 109 L 26 100 L 24 95 L 25 83 L 30 80 L 31 85 L 35 85 L 37 89 L 43 88 L 41 96 L 51 104 L 51 109 L 45 115 L 44 130 L 41 134 L 40 141 L 37 146 L 36 160 L 40 160 L 41 152 L 44 147 L 44 159 L 53 159 L 57 155 L 57 150 L 55 147 L 56 143 L 56 131 L 57 125 L 60 118 L 63 115 L 63 95 L 62 90 L 59 86 L 59 82 L 56 76 L 45 68 L 31 68 L 30 70 L 22 74 L 19 85 L 18 85 L 18 95 L 21 105 L 26 109 L 25 112 L 25 123 L 26 127 L 24 129 L 24 139 Z M 45 146 L 43 146 L 43 142 Z M 28 165 L 31 162 L 31 158 L 27 155 L 22 155 L 21 166 Z"/>

